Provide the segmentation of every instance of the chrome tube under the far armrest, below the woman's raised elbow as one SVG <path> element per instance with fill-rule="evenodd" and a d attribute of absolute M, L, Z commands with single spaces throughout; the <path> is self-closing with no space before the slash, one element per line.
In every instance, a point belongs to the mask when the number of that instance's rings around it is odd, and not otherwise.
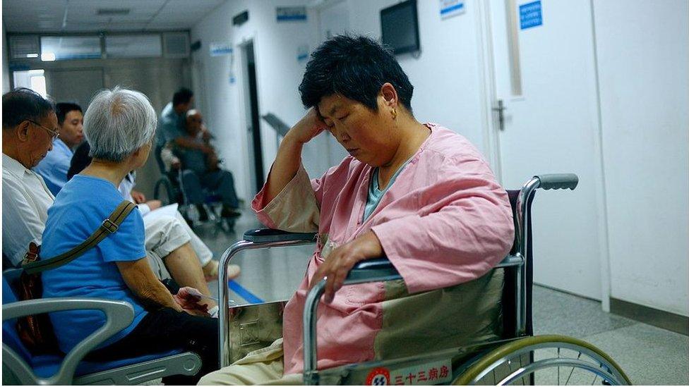
<path fill-rule="evenodd" d="M 227 266 L 232 258 L 244 250 L 262 250 L 270 249 L 270 247 L 284 247 L 284 246 L 301 246 L 301 245 L 311 245 L 313 240 L 282 240 L 277 242 L 260 242 L 255 243 L 248 240 L 240 240 L 235 242 L 232 246 L 227 247 L 220 257 L 220 264 L 218 265 L 217 274 L 217 299 L 218 299 L 218 328 L 219 328 L 219 339 L 220 339 L 220 367 L 229 366 L 229 354 L 232 353 L 230 346 L 232 343 L 229 341 L 229 335 L 227 330 L 229 328 L 229 292 L 227 291 Z M 227 347 L 226 347 L 227 345 Z M 227 348 L 227 350 L 225 349 Z"/>

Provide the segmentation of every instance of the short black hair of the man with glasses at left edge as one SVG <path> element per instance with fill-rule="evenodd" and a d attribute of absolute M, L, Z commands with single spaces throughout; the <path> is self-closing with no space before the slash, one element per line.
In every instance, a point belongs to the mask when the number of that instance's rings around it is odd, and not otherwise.
<path fill-rule="evenodd" d="M 23 121 L 40 121 L 55 111 L 55 106 L 41 94 L 19 87 L 2 96 L 2 128 L 14 128 Z"/>

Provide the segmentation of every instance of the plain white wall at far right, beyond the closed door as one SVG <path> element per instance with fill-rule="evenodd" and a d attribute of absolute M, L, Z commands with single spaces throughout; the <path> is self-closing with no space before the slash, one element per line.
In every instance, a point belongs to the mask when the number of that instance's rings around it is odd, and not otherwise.
<path fill-rule="evenodd" d="M 611 297 L 689 315 L 689 3 L 594 1 Z"/>

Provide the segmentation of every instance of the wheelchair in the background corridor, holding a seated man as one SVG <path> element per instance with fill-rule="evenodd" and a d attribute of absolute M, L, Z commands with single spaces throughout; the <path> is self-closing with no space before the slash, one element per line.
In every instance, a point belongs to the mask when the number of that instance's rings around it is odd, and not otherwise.
<path fill-rule="evenodd" d="M 165 164 L 161 157 L 162 149 L 163 147 L 160 145 L 155 147 L 155 161 L 160 169 L 161 177 L 155 182 L 153 199 L 160 200 L 163 204 L 179 204 L 179 212 L 184 216 L 184 219 L 190 221 L 192 226 L 212 224 L 215 226 L 212 229 L 216 234 L 218 230 L 223 230 L 227 233 L 234 231 L 234 219 L 224 219 L 220 216 L 220 208 L 222 207 L 220 195 L 205 188 L 203 190 L 205 200 L 200 205 L 203 206 L 206 214 L 208 214 L 208 221 L 200 221 L 198 209 L 189 203 L 184 191 L 183 171 L 181 169 L 179 171 L 165 170 Z"/>

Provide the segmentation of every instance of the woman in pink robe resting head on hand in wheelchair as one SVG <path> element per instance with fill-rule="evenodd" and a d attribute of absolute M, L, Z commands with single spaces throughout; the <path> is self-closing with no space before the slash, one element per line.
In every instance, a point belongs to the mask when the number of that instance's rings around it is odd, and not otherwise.
<path fill-rule="evenodd" d="M 200 383 L 301 383 L 301 316 L 321 278 L 318 369 L 500 333 L 502 278 L 491 269 L 513 242 L 508 195 L 469 141 L 414 118 L 412 90 L 393 54 L 367 37 L 334 37 L 312 54 L 299 86 L 311 109 L 280 143 L 252 207 L 270 228 L 317 231 L 316 251 L 284 309 L 283 338 Z M 349 156 L 310 180 L 301 150 L 323 131 Z M 354 264 L 381 256 L 403 282 L 340 290 Z"/>

